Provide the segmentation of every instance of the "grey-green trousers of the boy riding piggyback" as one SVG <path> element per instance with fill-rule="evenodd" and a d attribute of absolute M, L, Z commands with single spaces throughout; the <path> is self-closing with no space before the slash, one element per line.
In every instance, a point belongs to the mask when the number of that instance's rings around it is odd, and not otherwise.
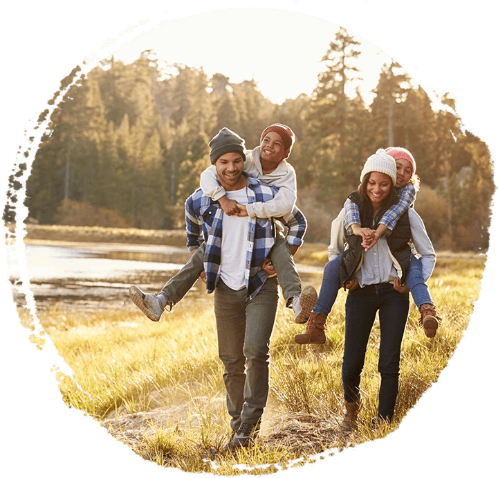
<path fill-rule="evenodd" d="M 205 242 L 196 249 L 178 274 L 169 279 L 159 293 L 167 302 L 178 303 L 196 283 L 204 270 L 204 253 Z M 301 293 L 301 279 L 297 273 L 291 249 L 289 249 L 287 240 L 281 231 L 277 231 L 275 245 L 268 257 L 277 271 L 279 284 L 282 287 L 286 303 L 288 303 L 291 297 Z"/>

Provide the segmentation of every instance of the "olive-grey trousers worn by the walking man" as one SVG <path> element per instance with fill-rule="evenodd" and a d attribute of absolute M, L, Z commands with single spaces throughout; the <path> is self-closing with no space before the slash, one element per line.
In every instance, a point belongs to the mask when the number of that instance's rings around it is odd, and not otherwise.
<path fill-rule="evenodd" d="M 218 351 L 232 430 L 242 422 L 258 423 L 266 406 L 270 336 L 278 300 L 275 277 L 268 278 L 252 300 L 246 288 L 235 291 L 223 281 L 214 291 Z"/>

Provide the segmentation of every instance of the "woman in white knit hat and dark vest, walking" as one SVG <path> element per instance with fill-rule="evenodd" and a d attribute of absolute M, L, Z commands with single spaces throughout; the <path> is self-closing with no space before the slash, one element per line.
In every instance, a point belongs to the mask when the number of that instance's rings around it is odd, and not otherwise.
<path fill-rule="evenodd" d="M 396 161 L 385 150 L 378 150 L 367 159 L 360 176 L 360 187 L 349 196 L 358 205 L 361 227 L 376 229 L 389 207 L 398 202 L 396 181 Z M 346 405 L 342 429 L 346 432 L 356 427 L 362 402 L 360 378 L 377 311 L 380 323 L 380 389 L 378 414 L 374 421 L 391 421 L 394 415 L 401 343 L 409 312 L 409 293 L 407 290 L 398 291 L 396 284 L 404 283 L 408 273 L 412 256 L 409 240 L 413 241 L 421 255 L 425 276 L 430 276 L 436 254 L 423 222 L 413 208 L 400 216 L 389 236 L 380 236 L 368 249 L 362 244 L 362 236 L 347 236 L 344 209 L 332 223 L 329 258 L 341 257 L 340 281 L 349 285 L 342 362 Z M 345 243 L 347 248 L 344 248 Z"/>

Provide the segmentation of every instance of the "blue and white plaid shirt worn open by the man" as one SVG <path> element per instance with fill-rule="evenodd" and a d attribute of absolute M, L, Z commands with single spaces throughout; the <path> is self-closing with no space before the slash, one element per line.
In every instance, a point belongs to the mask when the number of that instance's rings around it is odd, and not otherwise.
<path fill-rule="evenodd" d="M 258 179 L 246 177 L 248 202 L 266 202 L 277 194 L 278 188 Z M 246 254 L 246 288 L 250 299 L 263 287 L 268 274 L 261 269 L 264 260 L 275 244 L 275 223 L 273 219 L 248 218 L 249 233 Z M 289 245 L 302 245 L 306 232 L 306 218 L 296 207 L 293 211 L 279 218 L 288 227 Z M 219 202 L 213 201 L 198 189 L 185 202 L 185 224 L 187 229 L 187 247 L 190 251 L 206 243 L 204 270 L 206 273 L 206 290 L 214 291 L 220 278 L 221 233 L 223 209 Z"/>

